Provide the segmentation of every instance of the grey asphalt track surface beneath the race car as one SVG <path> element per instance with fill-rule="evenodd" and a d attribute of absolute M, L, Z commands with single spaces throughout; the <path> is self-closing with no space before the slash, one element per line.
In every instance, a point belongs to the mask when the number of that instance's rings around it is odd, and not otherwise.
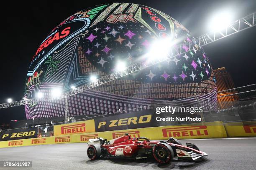
<path fill-rule="evenodd" d="M 32 168 L 0 168 L 1 170 L 255 170 L 256 138 L 221 138 L 181 140 L 194 143 L 208 154 L 196 162 L 173 161 L 159 165 L 150 160 L 89 160 L 86 143 L 37 145 L 0 148 L 0 161 L 32 161 Z"/>

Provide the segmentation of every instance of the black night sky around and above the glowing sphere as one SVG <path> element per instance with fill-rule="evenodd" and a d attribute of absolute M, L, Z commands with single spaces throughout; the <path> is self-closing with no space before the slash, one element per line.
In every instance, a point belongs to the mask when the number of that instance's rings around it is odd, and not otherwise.
<path fill-rule="evenodd" d="M 1 13 L 0 103 L 22 100 L 26 74 L 40 43 L 61 21 L 86 7 L 105 2 L 139 3 L 154 7 L 182 23 L 197 37 L 210 28 L 209 18 L 220 10 L 233 10 L 233 20 L 256 11 L 255 0 L 93 0 L 5 1 Z M 236 87 L 256 83 L 256 27 L 204 47 L 214 69 L 226 67 Z M 24 106 L 0 109 L 0 124 L 26 119 Z"/>

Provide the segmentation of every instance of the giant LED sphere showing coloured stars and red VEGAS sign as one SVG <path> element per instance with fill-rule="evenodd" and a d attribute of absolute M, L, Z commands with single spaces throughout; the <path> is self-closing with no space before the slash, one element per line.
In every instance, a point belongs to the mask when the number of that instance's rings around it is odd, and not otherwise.
<path fill-rule="evenodd" d="M 108 3 L 87 8 L 61 22 L 39 45 L 25 97 L 61 96 L 134 63 L 166 57 L 171 48 L 191 41 L 182 24 L 152 7 Z M 214 109 L 216 85 L 207 55 L 197 45 L 181 49 L 180 55 L 70 96 L 69 114 L 130 112 L 196 95 L 210 98 L 202 104 Z M 28 104 L 25 110 L 27 119 L 64 116 L 64 99 Z"/>

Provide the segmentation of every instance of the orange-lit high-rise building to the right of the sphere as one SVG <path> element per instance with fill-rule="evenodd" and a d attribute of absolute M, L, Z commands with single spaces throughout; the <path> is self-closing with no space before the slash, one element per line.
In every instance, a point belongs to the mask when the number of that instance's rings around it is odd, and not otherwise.
<path fill-rule="evenodd" d="M 225 67 L 213 70 L 216 78 L 216 86 L 218 90 L 218 108 L 228 108 L 232 107 L 234 102 L 238 100 L 238 95 L 236 95 L 235 85 L 230 73 Z"/>

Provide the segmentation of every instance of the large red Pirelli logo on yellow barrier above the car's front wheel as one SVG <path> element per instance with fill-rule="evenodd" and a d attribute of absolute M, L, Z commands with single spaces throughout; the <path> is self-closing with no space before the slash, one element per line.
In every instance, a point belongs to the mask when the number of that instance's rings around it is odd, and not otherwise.
<path fill-rule="evenodd" d="M 184 137 L 184 136 L 207 136 L 207 126 L 184 126 L 179 128 L 162 129 L 163 136 L 168 137 Z"/>

